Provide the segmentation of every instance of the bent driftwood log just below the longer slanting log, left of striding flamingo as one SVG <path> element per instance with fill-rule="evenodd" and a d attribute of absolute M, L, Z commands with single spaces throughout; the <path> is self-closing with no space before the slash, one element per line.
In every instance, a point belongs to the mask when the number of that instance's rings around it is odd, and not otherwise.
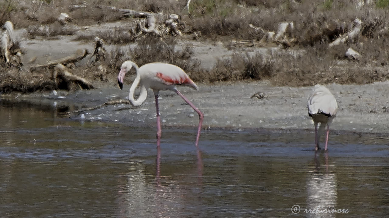
<path fill-rule="evenodd" d="M 63 66 L 62 64 L 56 64 L 54 67 L 54 71 L 52 74 L 52 79 L 56 85 L 56 88 L 58 88 L 58 79 L 63 79 L 65 80 L 66 83 L 75 83 L 79 85 L 83 89 L 91 89 L 93 88 L 92 83 L 90 83 L 88 80 L 76 76 L 72 73 L 70 73 L 67 67 Z"/>

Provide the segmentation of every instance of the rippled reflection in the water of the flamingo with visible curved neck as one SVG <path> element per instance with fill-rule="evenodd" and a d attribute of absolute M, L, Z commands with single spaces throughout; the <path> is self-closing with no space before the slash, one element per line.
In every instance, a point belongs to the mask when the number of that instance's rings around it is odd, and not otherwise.
<path fill-rule="evenodd" d="M 199 155 L 198 151 L 198 155 Z M 171 178 L 161 175 L 159 158 L 156 159 L 157 172 L 155 179 L 153 175 L 147 175 L 146 166 L 143 163 L 131 163 L 129 172 L 121 179 L 118 187 L 116 202 L 118 204 L 117 217 L 177 217 L 187 213 L 186 205 L 188 199 L 191 205 L 196 205 L 196 199 L 200 196 L 187 197 L 188 193 L 193 195 L 193 189 L 202 189 L 202 161 L 198 156 L 195 172 L 189 172 L 185 178 Z M 171 163 L 171 166 L 176 164 Z M 180 175 L 182 176 L 182 175 Z M 189 177 L 189 178 L 187 178 Z M 191 180 L 197 177 L 198 181 Z M 186 182 L 184 182 L 186 181 Z M 188 181 L 194 181 L 189 182 Z M 198 210 L 201 204 L 198 203 Z M 196 209 L 196 208 L 194 208 Z"/>

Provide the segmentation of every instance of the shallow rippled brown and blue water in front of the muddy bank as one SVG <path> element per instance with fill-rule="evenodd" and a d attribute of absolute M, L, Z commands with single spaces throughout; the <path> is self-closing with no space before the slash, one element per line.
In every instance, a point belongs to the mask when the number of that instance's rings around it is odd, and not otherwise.
<path fill-rule="evenodd" d="M 331 135 L 329 151 L 315 154 L 312 132 L 210 130 L 198 158 L 195 128 L 163 128 L 157 173 L 154 128 L 0 102 L 0 217 L 389 214 L 387 138 Z"/>

